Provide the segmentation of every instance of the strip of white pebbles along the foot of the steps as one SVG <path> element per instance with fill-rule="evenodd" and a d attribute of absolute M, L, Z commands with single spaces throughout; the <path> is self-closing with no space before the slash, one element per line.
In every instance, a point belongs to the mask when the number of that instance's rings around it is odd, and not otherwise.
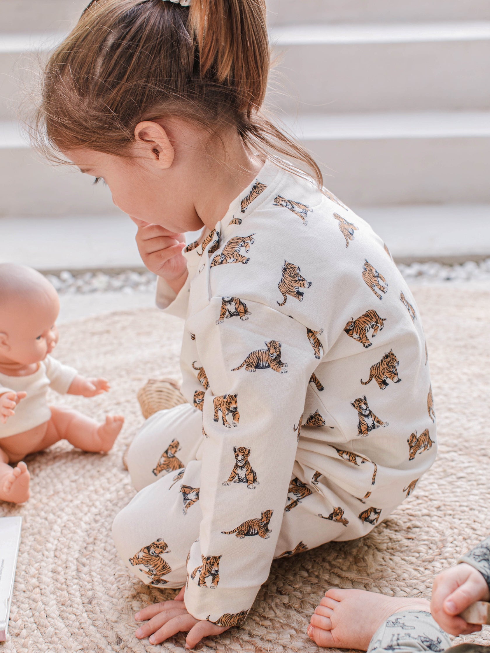
<path fill-rule="evenodd" d="M 465 261 L 457 265 L 442 263 L 399 264 L 400 272 L 408 283 L 433 283 L 448 281 L 490 281 L 490 258 L 476 263 Z M 152 272 L 84 272 L 76 274 L 63 270 L 59 274 L 47 274 L 60 295 L 75 293 L 104 293 L 119 291 L 131 293 L 152 293 L 155 291 L 155 275 Z"/>

